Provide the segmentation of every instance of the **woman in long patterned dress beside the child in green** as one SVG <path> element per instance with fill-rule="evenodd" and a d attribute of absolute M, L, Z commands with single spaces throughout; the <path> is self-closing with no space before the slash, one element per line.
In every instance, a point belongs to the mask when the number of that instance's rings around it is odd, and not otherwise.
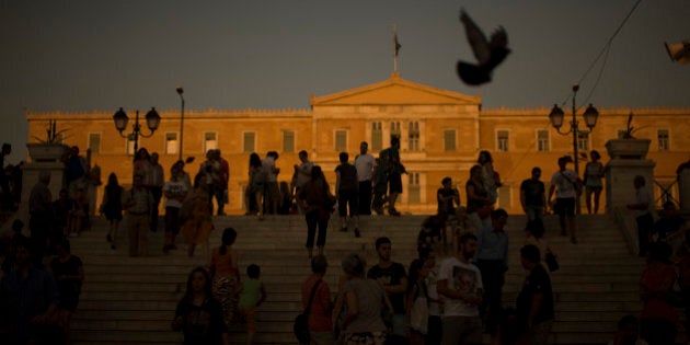
<path fill-rule="evenodd" d="M 223 321 L 228 326 L 237 312 L 241 289 L 238 254 L 232 250 L 237 237 L 238 232 L 233 228 L 223 230 L 222 244 L 214 250 L 210 262 L 214 298 L 220 302 Z"/>

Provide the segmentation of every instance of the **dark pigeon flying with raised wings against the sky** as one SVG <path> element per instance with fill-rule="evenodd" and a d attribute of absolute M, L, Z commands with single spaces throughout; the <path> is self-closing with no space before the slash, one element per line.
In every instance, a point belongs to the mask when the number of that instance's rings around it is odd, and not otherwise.
<path fill-rule="evenodd" d="M 510 54 L 508 49 L 508 35 L 503 26 L 498 26 L 491 34 L 491 41 L 482 32 L 476 23 L 468 15 L 464 10 L 460 10 L 460 22 L 464 25 L 464 32 L 468 37 L 472 51 L 476 58 L 476 65 L 465 61 L 458 61 L 458 76 L 469 85 L 480 85 L 491 81 L 491 73 L 505 60 Z"/>

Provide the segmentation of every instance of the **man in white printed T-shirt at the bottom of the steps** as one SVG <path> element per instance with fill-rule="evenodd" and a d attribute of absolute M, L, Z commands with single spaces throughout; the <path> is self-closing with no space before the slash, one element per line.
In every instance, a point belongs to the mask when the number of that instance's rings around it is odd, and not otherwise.
<path fill-rule="evenodd" d="M 470 263 L 476 250 L 476 237 L 465 233 L 458 240 L 458 251 L 444 260 L 438 269 L 436 290 L 442 302 L 441 344 L 481 344 L 482 274 Z"/>

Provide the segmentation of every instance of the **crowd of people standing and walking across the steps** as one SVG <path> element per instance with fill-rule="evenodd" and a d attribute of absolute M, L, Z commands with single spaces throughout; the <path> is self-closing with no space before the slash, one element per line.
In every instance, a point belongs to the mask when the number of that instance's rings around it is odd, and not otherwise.
<path fill-rule="evenodd" d="M 11 147 L 3 146 L 3 157 Z M 306 248 L 312 275 L 301 286 L 302 307 L 310 306 L 311 344 L 481 344 L 482 333 L 491 334 L 492 344 L 547 344 L 554 322 L 554 300 L 551 274 L 554 268 L 547 256 L 556 251 L 544 238 L 544 215 L 559 216 L 562 235 L 578 243 L 575 226 L 575 199 L 586 193 L 587 209 L 598 212 L 602 189 L 603 166 L 597 151 L 582 179 L 567 169 L 572 158 L 562 157 L 549 188 L 540 180 L 541 169 L 534 166 L 531 176 L 520 185 L 520 203 L 526 214 L 526 241 L 520 249 L 520 264 L 526 271 L 522 288 L 513 308 L 505 308 L 503 286 L 508 269 L 508 214 L 496 209 L 501 175 L 494 169 L 488 151 L 481 151 L 464 183 L 465 207 L 461 193 L 451 177 L 444 177 L 437 191 L 437 212 L 421 225 L 417 235 L 418 257 L 407 267 L 392 261 L 392 242 L 376 240 L 378 262 L 367 269 L 359 254 L 342 261 L 343 275 L 335 294 L 324 275 L 324 254 L 330 218 L 337 210 L 341 231 L 354 229 L 361 237 L 359 216 L 378 215 L 388 210 L 399 217 L 395 208 L 402 193 L 405 168 L 400 160 L 400 140 L 378 158 L 368 153 L 368 143 L 349 162 L 349 154 L 338 154 L 335 168 L 334 194 L 320 165 L 299 152 L 289 185 L 278 182 L 278 153 L 268 151 L 264 159 L 252 153 L 249 162 L 246 209 L 258 220 L 266 214 L 299 214 L 307 222 Z M 197 246 L 205 248 L 208 267 L 189 273 L 185 296 L 180 301 L 172 323 L 184 333 L 185 344 L 227 344 L 228 330 L 243 323 L 248 344 L 257 332 L 256 307 L 266 299 L 261 281 L 261 267 L 250 264 L 245 277 L 239 272 L 237 252 L 232 245 L 237 231 L 225 229 L 221 245 L 208 248 L 214 229 L 212 216 L 225 215 L 228 204 L 229 163 L 220 150 L 209 150 L 198 172 L 191 179 L 184 171 L 192 162 L 176 161 L 165 180 L 158 153 L 141 148 L 135 154 L 133 185 L 126 189 L 111 173 L 104 186 L 99 211 L 108 221 L 106 240 L 112 250 L 118 248 L 118 228 L 127 214 L 129 256 L 145 256 L 148 232 L 159 229 L 159 205 L 164 197 L 163 253 L 176 250 L 176 237 L 182 233 L 187 255 Z M 50 174 L 42 172 L 30 199 L 30 238 L 21 234 L 23 225 L 13 226 L 11 253 L 3 262 L 4 276 L 0 285 L 3 303 L 0 333 L 18 344 L 41 343 L 45 340 L 69 342 L 69 323 L 76 311 L 84 272 L 81 260 L 70 253 L 68 238 L 78 237 L 89 223 L 85 188 L 96 184 L 89 163 L 72 147 L 66 154 L 65 181 L 57 199 L 48 188 Z M 4 197 L 5 180 L 0 181 Z M 669 240 L 682 235 L 682 218 L 672 203 L 664 205 L 660 219 L 654 220 L 654 203 L 643 176 L 636 176 L 635 211 L 640 255 L 648 257 L 641 279 L 643 312 L 639 322 L 640 337 L 648 344 L 667 344 L 675 338 L 679 318 L 678 300 L 690 297 L 690 245 L 677 254 L 672 265 Z M 555 196 L 555 197 L 554 197 Z M 216 211 L 214 211 L 214 202 Z M 10 203 L 7 200 L 7 203 Z M 15 206 L 15 204 L 10 204 Z M 688 243 L 688 242 L 686 242 Z M 314 244 L 317 253 L 313 253 Z M 55 255 L 49 265 L 45 257 Z M 679 277 L 680 281 L 676 280 Z M 35 291 L 24 294 L 30 279 Z M 38 285 L 41 285 L 38 287 Z M 678 294 L 676 285 L 681 287 Z M 37 298 L 41 296 L 41 298 Z M 311 303 L 308 301 L 312 300 Z M 686 312 L 690 312 L 687 308 Z M 21 318 L 16 318 L 21 315 Z M 624 318 L 625 319 L 625 318 Z M 633 337 L 626 332 L 630 318 L 621 320 L 613 344 Z M 635 334 L 635 336 L 637 336 Z M 50 342 L 50 341 L 49 341 Z"/>

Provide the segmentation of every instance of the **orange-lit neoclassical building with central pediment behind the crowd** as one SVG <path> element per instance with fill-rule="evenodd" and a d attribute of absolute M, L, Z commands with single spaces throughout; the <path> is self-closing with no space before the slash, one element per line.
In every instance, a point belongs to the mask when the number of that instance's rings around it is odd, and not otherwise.
<path fill-rule="evenodd" d="M 501 173 L 498 205 L 521 212 L 519 187 L 533 166 L 541 166 L 549 183 L 556 160 L 573 153 L 573 135 L 562 136 L 551 126 L 551 107 L 483 108 L 480 95 L 465 95 L 405 80 L 398 73 L 387 80 L 322 96 L 311 96 L 310 110 L 185 111 L 183 156 L 195 157 L 185 170 L 194 175 L 209 149 L 220 149 L 230 163 L 229 214 L 244 212 L 249 156 L 267 151 L 279 153 L 279 181 L 289 182 L 297 152 L 306 150 L 320 164 L 332 187 L 338 153 L 352 159 L 361 141 L 369 142 L 376 157 L 388 147 L 391 136 L 401 138 L 401 160 L 409 174 L 403 176 L 403 194 L 398 208 L 403 212 L 436 210 L 436 191 L 450 176 L 461 191 L 480 150 L 494 157 Z M 45 135 L 48 122 L 66 130 L 65 143 L 90 150 L 91 164 L 101 166 L 102 179 L 115 172 L 124 185 L 131 183 L 134 140 L 123 138 L 113 125 L 115 110 L 92 113 L 27 113 L 28 138 Z M 599 150 L 606 164 L 605 143 L 624 131 L 634 114 L 635 137 L 651 139 L 647 158 L 656 163 L 655 197 L 665 192 L 677 195 L 676 168 L 690 158 L 690 108 L 599 108 L 599 120 L 590 134 L 577 138 L 580 152 Z M 134 117 L 134 111 L 127 111 Z M 159 129 L 139 138 L 139 147 L 159 152 L 165 169 L 180 154 L 180 110 L 159 111 Z M 566 129 L 570 110 L 565 110 Z M 582 123 L 582 110 L 578 119 Z M 570 116 L 568 116 L 570 115 Z M 145 125 L 142 125 L 146 127 Z M 584 126 L 582 126 L 584 127 Z M 567 130 L 567 129 L 566 129 Z M 143 129 L 148 133 L 147 129 Z M 580 175 L 586 163 L 580 158 Z M 102 186 L 99 188 L 99 200 Z M 633 187 L 631 185 L 631 193 Z M 602 206 L 606 202 L 602 198 Z M 584 203 L 583 203 L 584 205 Z"/>

